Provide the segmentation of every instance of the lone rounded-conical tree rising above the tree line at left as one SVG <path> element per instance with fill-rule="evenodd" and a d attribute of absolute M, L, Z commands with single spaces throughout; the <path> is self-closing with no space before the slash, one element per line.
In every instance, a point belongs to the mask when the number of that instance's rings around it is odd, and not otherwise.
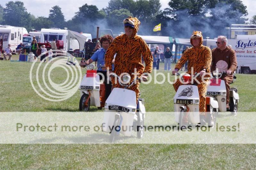
<path fill-rule="evenodd" d="M 63 29 L 67 25 L 61 8 L 58 5 L 53 6 L 50 10 L 49 19 L 52 21 L 52 27 Z"/>

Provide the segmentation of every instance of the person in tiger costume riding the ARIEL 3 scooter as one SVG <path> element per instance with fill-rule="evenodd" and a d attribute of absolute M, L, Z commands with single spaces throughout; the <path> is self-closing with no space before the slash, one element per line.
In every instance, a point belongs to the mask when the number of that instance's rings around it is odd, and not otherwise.
<path fill-rule="evenodd" d="M 200 82 L 200 84 L 197 85 L 198 92 L 199 92 L 199 112 L 200 112 L 200 123 L 201 125 L 205 125 L 205 102 L 206 97 L 205 93 L 207 91 L 208 87 L 208 81 L 210 77 L 210 66 L 212 63 L 212 52 L 209 47 L 203 46 L 203 35 L 201 31 L 194 31 L 192 36 L 190 37 L 190 43 L 193 46 L 192 48 L 188 48 L 182 57 L 180 58 L 180 61 L 175 65 L 175 70 L 172 71 L 172 74 L 177 73 L 183 64 L 185 64 L 186 61 L 188 61 L 188 73 L 191 74 L 191 69 L 193 68 L 193 73 L 195 72 L 200 73 L 200 76 L 198 76 L 196 79 Z M 207 73 L 205 75 L 205 73 Z M 202 76 L 204 75 L 204 79 Z M 206 78 L 206 79 L 205 79 Z M 204 81 L 204 82 L 203 82 Z M 176 83 L 173 84 L 173 87 L 175 91 L 177 92 L 179 86 L 182 85 L 182 83 L 177 80 Z"/>

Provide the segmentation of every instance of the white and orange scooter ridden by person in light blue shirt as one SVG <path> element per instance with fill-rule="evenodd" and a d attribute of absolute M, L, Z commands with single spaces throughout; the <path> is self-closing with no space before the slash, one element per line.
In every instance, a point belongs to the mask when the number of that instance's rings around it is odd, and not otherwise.
<path fill-rule="evenodd" d="M 97 69 L 104 66 L 99 66 L 95 69 L 94 64 L 84 66 L 86 66 L 87 72 L 79 86 L 79 110 L 87 112 L 90 106 L 96 106 L 98 109 L 102 109 L 105 105 L 105 84 L 100 83 L 100 76 L 97 74 Z"/>

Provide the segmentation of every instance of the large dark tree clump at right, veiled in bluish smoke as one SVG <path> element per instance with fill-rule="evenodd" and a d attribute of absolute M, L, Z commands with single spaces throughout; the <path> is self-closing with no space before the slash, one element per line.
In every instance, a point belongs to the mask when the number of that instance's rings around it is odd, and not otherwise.
<path fill-rule="evenodd" d="M 210 38 L 227 35 L 225 27 L 244 24 L 248 14 L 241 0 L 171 0 L 168 5 L 165 15 L 174 21 L 169 26 L 179 28 L 170 29 L 170 33 L 179 38 L 188 38 L 194 30 Z"/>

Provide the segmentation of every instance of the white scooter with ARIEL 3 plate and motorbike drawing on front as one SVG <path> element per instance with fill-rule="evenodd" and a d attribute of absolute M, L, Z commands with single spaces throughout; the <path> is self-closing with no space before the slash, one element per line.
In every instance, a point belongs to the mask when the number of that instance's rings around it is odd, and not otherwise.
<path fill-rule="evenodd" d="M 194 77 L 197 75 L 195 73 Z M 191 76 L 185 74 L 181 76 L 177 73 L 187 85 L 180 85 L 174 96 L 175 121 L 179 123 L 181 128 L 188 127 L 189 124 L 199 124 L 199 93 L 195 83 L 191 83 Z M 214 127 L 216 123 L 216 115 L 218 111 L 218 102 L 213 97 L 206 97 L 205 118 L 209 127 Z"/>

